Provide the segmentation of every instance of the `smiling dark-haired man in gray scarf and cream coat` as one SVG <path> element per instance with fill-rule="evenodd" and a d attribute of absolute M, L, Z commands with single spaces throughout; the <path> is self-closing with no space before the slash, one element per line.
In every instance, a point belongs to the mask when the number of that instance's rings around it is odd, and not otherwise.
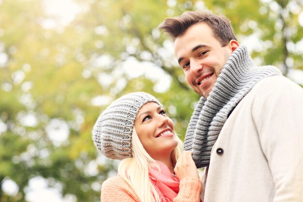
<path fill-rule="evenodd" d="M 185 12 L 158 27 L 201 95 L 184 149 L 204 170 L 204 202 L 303 202 L 303 89 L 257 67 L 225 16 Z"/>

